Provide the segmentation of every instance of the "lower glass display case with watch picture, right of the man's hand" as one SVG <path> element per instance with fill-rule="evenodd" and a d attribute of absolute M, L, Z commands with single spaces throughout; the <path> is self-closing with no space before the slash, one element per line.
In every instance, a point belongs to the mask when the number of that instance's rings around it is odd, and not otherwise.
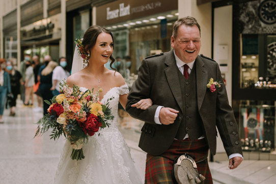
<path fill-rule="evenodd" d="M 240 137 L 243 151 L 270 152 L 275 148 L 275 106 L 241 103 Z"/>

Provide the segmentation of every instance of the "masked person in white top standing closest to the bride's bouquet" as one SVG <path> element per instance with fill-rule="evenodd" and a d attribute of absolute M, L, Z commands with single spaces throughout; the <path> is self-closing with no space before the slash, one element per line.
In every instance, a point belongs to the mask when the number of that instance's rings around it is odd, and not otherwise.
<path fill-rule="evenodd" d="M 60 94 L 59 83 L 66 80 L 70 76 L 70 73 L 66 70 L 67 62 L 65 57 L 61 57 L 59 59 L 59 64 L 60 66 L 53 69 L 52 87 L 50 88 L 53 96 Z"/>

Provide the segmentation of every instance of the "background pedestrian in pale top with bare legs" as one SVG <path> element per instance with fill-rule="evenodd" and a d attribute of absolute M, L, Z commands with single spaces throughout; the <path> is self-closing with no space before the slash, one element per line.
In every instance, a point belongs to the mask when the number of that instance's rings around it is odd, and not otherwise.
<path fill-rule="evenodd" d="M 31 99 L 31 106 L 34 102 L 34 91 L 33 86 L 35 84 L 35 77 L 34 77 L 34 68 L 32 66 L 32 63 L 29 60 L 26 60 L 25 62 L 26 66 L 26 72 L 25 72 L 25 101 L 24 105 L 29 106 L 29 101 Z"/>

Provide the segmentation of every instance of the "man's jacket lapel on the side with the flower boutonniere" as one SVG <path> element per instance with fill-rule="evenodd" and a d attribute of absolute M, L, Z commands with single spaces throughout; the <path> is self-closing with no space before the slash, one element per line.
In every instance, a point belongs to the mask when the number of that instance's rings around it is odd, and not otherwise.
<path fill-rule="evenodd" d="M 206 85 L 208 82 L 208 72 L 204 67 L 204 62 L 200 56 L 196 59 L 196 67 L 197 67 L 197 94 L 198 94 L 198 108 L 200 110 L 203 99 L 206 93 Z"/>

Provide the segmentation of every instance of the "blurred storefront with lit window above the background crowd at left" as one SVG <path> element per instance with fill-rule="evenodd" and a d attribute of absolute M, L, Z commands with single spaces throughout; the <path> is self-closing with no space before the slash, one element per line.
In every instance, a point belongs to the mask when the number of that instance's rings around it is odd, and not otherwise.
<path fill-rule="evenodd" d="M 20 7 L 21 57 L 25 53 L 38 55 L 41 62 L 45 55 L 56 62 L 60 57 L 61 1 L 47 3 L 47 16 L 43 12 L 43 0 L 29 1 Z"/>

